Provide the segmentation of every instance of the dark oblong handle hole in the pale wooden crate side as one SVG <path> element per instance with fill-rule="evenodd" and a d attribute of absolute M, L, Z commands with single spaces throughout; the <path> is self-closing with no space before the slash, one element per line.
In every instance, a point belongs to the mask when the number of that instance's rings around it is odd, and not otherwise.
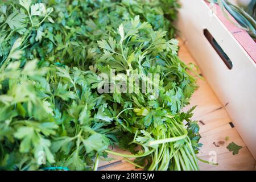
<path fill-rule="evenodd" d="M 232 61 L 229 59 L 229 56 L 226 55 L 220 44 L 217 43 L 217 41 L 213 38 L 212 34 L 210 34 L 207 29 L 204 29 L 204 36 L 205 38 L 207 38 L 208 42 L 210 43 L 210 45 L 212 45 L 217 54 L 220 56 L 221 60 L 225 63 L 226 67 L 228 67 L 228 69 L 232 69 L 233 64 Z"/>

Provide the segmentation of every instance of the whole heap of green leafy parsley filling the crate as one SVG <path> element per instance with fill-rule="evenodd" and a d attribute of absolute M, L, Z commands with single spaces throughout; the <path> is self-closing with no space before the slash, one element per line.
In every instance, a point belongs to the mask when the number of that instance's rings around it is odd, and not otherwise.
<path fill-rule="evenodd" d="M 193 108 L 181 111 L 196 80 L 177 57 L 178 7 L 175 0 L 0 2 L 0 168 L 96 170 L 112 153 L 149 170 L 197 170 L 199 127 Z M 115 80 L 159 74 L 158 97 L 97 92 L 111 69 L 122 73 Z M 133 154 L 108 150 L 115 144 Z"/>

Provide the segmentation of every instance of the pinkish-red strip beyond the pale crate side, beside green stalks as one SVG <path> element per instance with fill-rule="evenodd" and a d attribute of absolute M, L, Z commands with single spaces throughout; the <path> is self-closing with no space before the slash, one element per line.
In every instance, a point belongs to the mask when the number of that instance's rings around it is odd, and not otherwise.
<path fill-rule="evenodd" d="M 208 4 L 208 6 L 210 6 L 209 2 L 206 2 L 206 3 Z M 215 13 L 217 14 L 218 18 L 220 18 L 221 22 L 226 26 L 226 28 L 228 28 L 229 32 L 232 33 L 234 38 L 237 39 L 237 41 L 249 54 L 251 59 L 254 60 L 254 63 L 256 63 L 256 43 L 254 42 L 254 40 L 250 37 L 250 35 L 245 30 L 242 30 L 241 28 L 238 28 L 236 25 L 231 23 L 222 13 L 220 6 L 218 5 L 214 5 L 214 6 L 216 7 Z M 237 23 L 237 21 L 233 18 L 232 15 L 230 15 L 228 12 L 227 14 L 229 15 L 230 19 L 233 22 Z"/>

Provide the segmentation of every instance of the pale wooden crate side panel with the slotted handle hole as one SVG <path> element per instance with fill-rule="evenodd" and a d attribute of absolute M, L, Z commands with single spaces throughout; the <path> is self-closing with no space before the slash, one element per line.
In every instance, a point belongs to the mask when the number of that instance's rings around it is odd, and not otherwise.
<path fill-rule="evenodd" d="M 256 64 L 203 0 L 180 0 L 177 27 L 210 86 L 226 105 L 256 159 Z M 213 35 L 233 63 L 229 70 L 203 34 Z"/>

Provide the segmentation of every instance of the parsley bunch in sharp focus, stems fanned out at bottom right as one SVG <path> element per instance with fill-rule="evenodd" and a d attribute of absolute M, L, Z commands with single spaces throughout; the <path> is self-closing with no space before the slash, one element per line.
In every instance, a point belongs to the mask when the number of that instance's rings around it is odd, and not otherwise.
<path fill-rule="evenodd" d="M 160 75 L 158 97 L 143 92 L 119 93 L 119 90 L 115 90 L 112 97 L 106 97 L 109 107 L 115 104 L 112 110 L 115 126 L 121 130 L 119 146 L 129 148 L 134 155 L 108 152 L 139 158 L 139 167 L 148 170 L 197 170 L 195 147 L 198 147 L 199 129 L 190 120 L 192 110 L 180 113 L 196 89 L 195 78 L 187 73 L 189 68 L 177 57 L 177 41 L 164 37 L 165 31 L 154 31 L 149 23 L 142 23 L 139 16 L 135 16 L 123 22 L 117 32 L 113 30 L 108 40 L 98 41 L 102 49 L 95 65 L 98 73 L 108 74 L 110 69 L 116 69 L 123 79 L 140 73 L 141 80 L 149 73 Z M 187 128 L 184 120 L 188 122 Z M 191 139 L 196 142 L 192 144 Z M 135 150 L 135 146 L 141 150 Z M 145 160 L 147 166 L 142 167 Z"/>

